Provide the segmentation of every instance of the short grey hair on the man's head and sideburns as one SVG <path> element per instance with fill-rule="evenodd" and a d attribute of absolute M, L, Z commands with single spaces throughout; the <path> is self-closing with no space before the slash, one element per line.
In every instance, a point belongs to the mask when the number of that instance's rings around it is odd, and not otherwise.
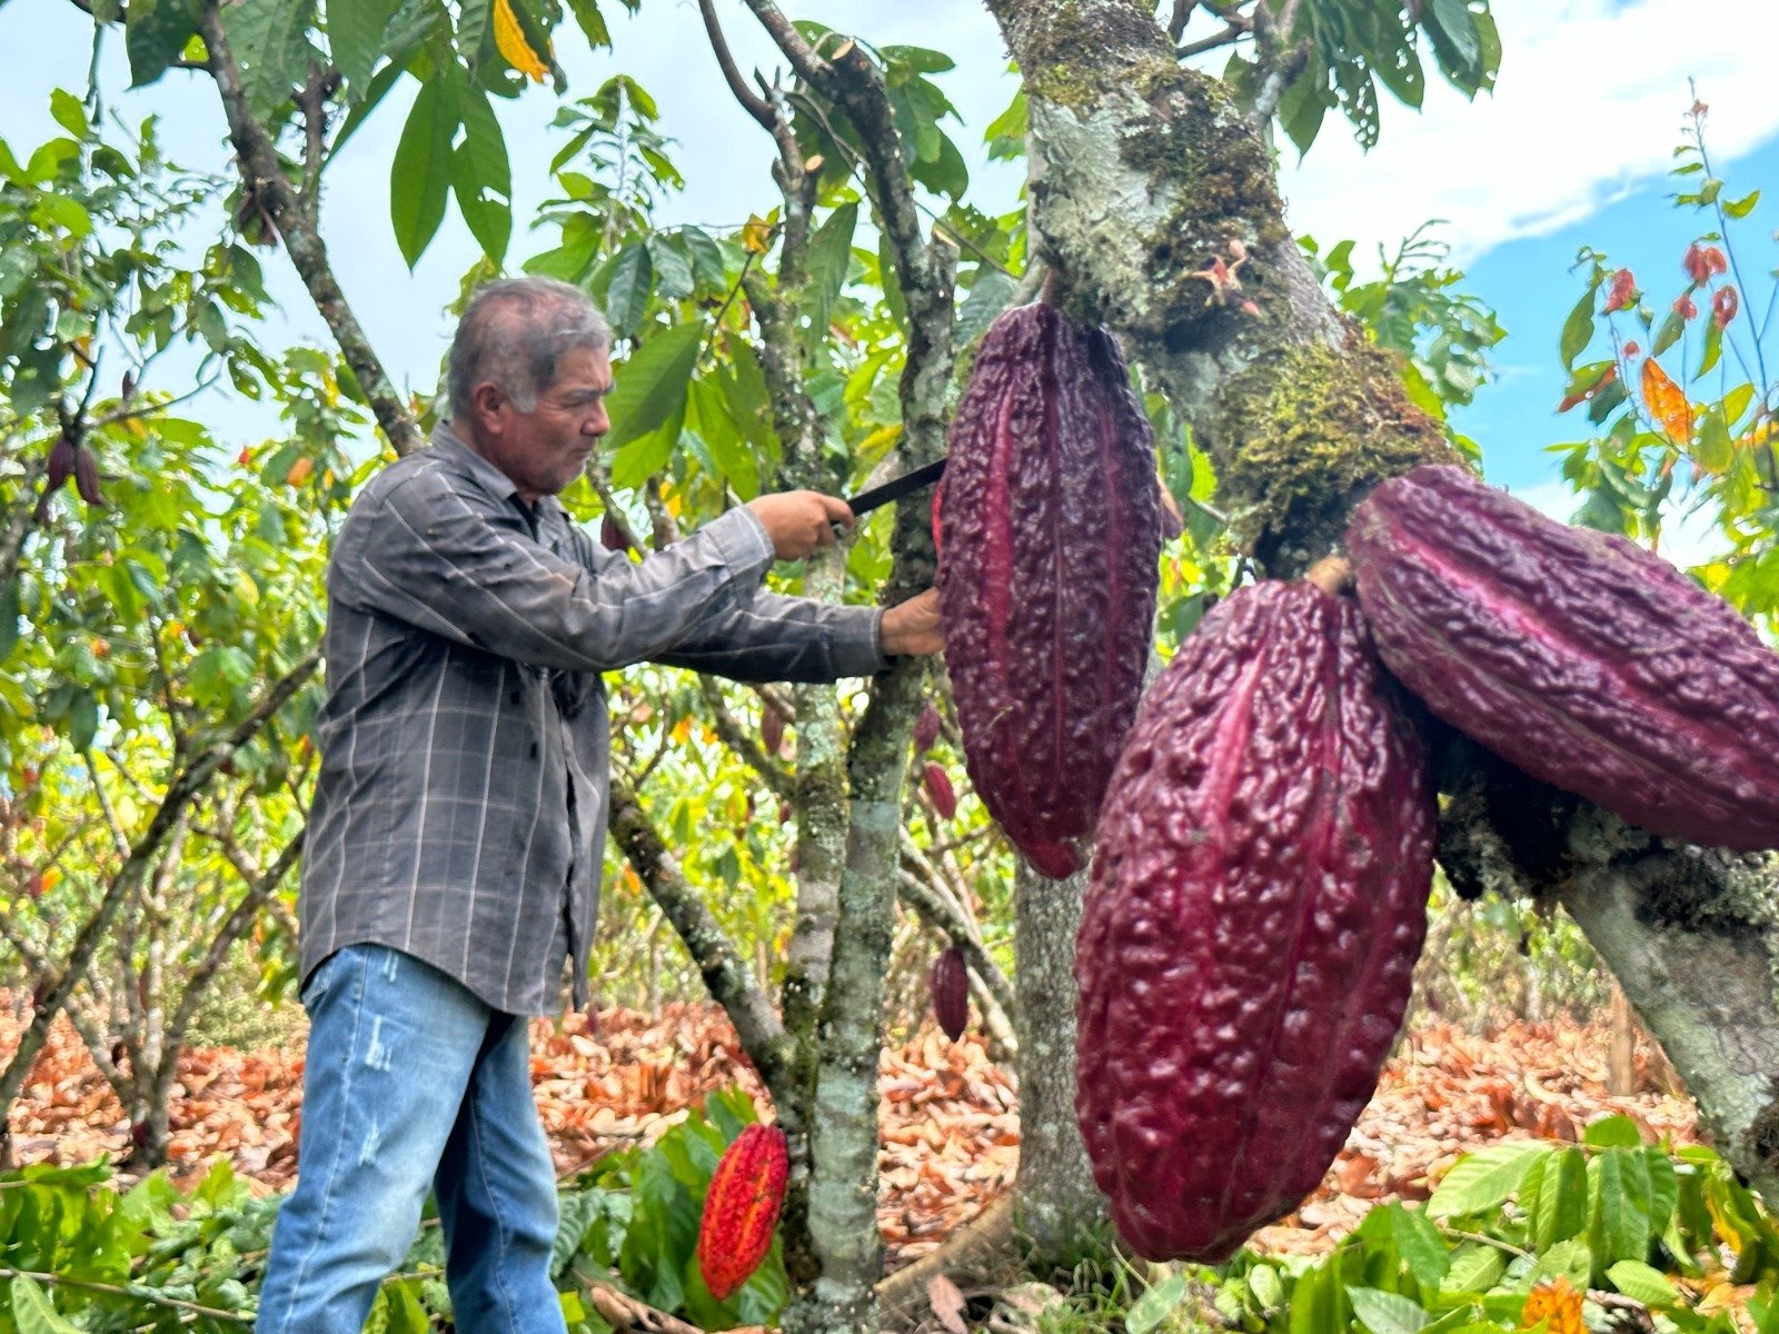
<path fill-rule="evenodd" d="M 575 347 L 603 352 L 612 325 L 578 286 L 555 277 L 503 277 L 470 297 L 450 345 L 450 411 L 468 418 L 477 384 L 493 381 L 521 413 L 555 384 L 557 361 Z"/>

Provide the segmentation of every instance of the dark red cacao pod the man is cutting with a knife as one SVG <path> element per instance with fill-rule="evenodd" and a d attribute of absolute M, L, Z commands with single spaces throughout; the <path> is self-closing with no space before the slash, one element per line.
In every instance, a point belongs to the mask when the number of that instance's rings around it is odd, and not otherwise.
<path fill-rule="evenodd" d="M 934 509 L 970 779 L 1062 879 L 1142 695 L 1162 550 L 1153 432 L 1105 329 L 1042 304 L 989 325 Z"/>

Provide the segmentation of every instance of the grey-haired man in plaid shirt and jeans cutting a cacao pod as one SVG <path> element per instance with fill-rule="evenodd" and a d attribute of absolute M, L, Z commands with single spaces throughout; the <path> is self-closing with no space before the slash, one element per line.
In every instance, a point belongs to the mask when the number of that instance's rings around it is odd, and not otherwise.
<path fill-rule="evenodd" d="M 302 866 L 310 1012 L 297 1188 L 260 1334 L 358 1334 L 431 1185 L 457 1329 L 564 1329 L 555 1172 L 527 1016 L 587 1000 L 607 824 L 600 672 L 861 676 L 941 646 L 932 591 L 881 612 L 763 592 L 845 502 L 760 496 L 642 562 L 555 494 L 610 429 L 610 333 L 564 283 L 491 283 L 450 422 L 352 503 L 327 573 L 327 704 Z"/>

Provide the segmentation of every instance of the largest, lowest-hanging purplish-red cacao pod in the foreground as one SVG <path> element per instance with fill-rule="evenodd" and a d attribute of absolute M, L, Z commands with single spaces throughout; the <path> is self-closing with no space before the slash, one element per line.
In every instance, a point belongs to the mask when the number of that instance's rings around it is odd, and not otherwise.
<path fill-rule="evenodd" d="M 1434 818 L 1350 599 L 1240 589 L 1151 687 L 1075 962 L 1075 1110 L 1139 1254 L 1220 1261 L 1322 1181 L 1402 1023 Z"/>

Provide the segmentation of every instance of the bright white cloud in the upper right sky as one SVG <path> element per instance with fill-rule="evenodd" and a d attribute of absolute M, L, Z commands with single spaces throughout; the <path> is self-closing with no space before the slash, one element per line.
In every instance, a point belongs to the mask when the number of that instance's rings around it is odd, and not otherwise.
<path fill-rule="evenodd" d="M 1779 132 L 1772 0 L 1496 0 L 1494 16 L 1505 50 L 1494 94 L 1466 103 L 1430 82 L 1420 114 L 1386 100 L 1368 155 L 1331 114 L 1284 171 L 1293 228 L 1354 237 L 1370 258 L 1375 242 L 1393 247 L 1443 217 L 1459 263 L 1553 231 L 1669 169 L 1688 76 L 1711 107 L 1713 164 Z"/>

